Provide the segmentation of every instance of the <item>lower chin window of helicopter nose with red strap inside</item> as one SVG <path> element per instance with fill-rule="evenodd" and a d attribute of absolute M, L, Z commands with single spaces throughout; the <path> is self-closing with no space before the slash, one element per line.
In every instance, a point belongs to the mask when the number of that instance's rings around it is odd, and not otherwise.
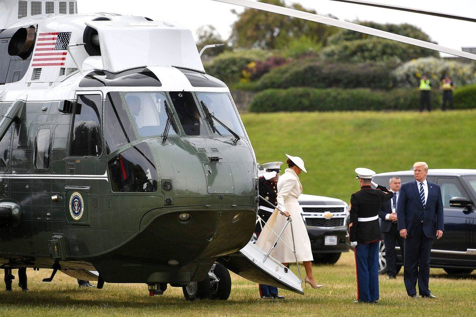
<path fill-rule="evenodd" d="M 157 192 L 157 171 L 146 143 L 139 143 L 109 161 L 113 192 Z"/>

